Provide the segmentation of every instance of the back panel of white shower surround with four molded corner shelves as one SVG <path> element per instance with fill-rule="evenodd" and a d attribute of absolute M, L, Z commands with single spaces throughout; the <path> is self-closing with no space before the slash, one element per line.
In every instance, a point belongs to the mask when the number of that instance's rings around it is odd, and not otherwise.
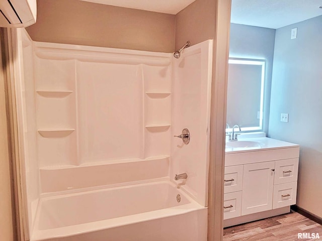
<path fill-rule="evenodd" d="M 170 54 L 34 46 L 42 192 L 168 176 Z"/>

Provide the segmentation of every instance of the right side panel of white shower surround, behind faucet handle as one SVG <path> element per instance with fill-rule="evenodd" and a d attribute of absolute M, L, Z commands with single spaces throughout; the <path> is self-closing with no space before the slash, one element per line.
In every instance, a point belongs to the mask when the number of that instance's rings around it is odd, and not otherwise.
<path fill-rule="evenodd" d="M 188 145 L 173 140 L 170 177 L 186 172 L 188 179 L 182 188 L 203 206 L 208 201 L 211 59 L 209 40 L 185 49 L 179 59 L 173 59 L 173 133 L 178 135 L 188 128 L 191 140 Z"/>

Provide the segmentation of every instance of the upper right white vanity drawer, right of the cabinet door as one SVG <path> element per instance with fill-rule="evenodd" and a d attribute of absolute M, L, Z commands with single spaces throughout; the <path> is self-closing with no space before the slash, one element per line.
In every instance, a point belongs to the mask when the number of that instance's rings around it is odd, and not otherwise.
<path fill-rule="evenodd" d="M 275 161 L 274 185 L 296 182 L 298 158 Z"/>

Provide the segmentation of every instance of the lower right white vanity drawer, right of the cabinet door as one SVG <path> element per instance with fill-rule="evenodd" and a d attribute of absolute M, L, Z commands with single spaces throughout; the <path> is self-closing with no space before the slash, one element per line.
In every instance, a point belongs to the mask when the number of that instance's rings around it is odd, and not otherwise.
<path fill-rule="evenodd" d="M 297 182 L 274 185 L 273 209 L 296 203 Z"/>

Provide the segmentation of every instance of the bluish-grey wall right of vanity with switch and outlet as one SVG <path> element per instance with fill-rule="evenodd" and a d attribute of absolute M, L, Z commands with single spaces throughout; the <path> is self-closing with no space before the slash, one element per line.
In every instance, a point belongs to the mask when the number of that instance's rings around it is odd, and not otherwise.
<path fill-rule="evenodd" d="M 276 30 L 269 137 L 300 145 L 297 205 L 319 217 L 322 200 L 322 16 Z M 290 39 L 297 28 L 297 38 Z M 289 113 L 289 122 L 280 114 Z"/>

